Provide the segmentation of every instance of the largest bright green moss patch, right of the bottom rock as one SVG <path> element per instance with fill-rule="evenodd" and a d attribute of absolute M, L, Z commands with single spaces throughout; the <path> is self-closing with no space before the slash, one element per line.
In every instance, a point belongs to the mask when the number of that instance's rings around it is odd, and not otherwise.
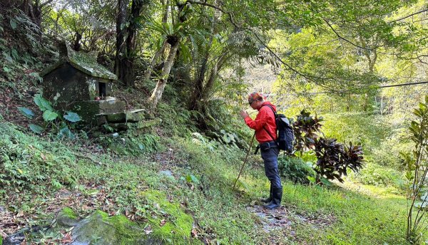
<path fill-rule="evenodd" d="M 142 193 L 149 202 L 160 207 L 162 212 L 165 212 L 168 218 L 166 223 L 161 226 L 161 220 L 164 217 L 149 218 L 153 227 L 153 235 L 166 240 L 186 241 L 190 240 L 190 233 L 193 228 L 193 218 L 185 214 L 179 204 L 168 202 L 165 194 L 158 191 L 148 191 Z"/>

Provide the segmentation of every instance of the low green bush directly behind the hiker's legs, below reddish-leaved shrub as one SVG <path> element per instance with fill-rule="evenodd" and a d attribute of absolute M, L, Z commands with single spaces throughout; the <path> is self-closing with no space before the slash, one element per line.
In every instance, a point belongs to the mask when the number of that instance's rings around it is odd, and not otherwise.
<path fill-rule="evenodd" d="M 278 169 L 282 177 L 294 183 L 309 184 L 307 177 L 315 177 L 312 162 L 305 162 L 298 157 L 278 157 Z"/>

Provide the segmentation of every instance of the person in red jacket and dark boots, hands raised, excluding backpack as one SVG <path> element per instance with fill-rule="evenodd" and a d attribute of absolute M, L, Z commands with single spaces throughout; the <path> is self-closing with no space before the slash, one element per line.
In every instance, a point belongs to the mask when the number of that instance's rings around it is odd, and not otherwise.
<path fill-rule="evenodd" d="M 251 119 L 245 110 L 241 110 L 240 115 L 248 127 L 255 130 L 255 139 L 259 142 L 258 148 L 260 147 L 265 164 L 265 174 L 270 181 L 269 198 L 262 199 L 262 202 L 266 203 L 264 207 L 267 209 L 275 209 L 280 207 L 282 199 L 282 185 L 277 160 L 279 149 L 275 142 L 277 139 L 276 124 L 275 115 L 272 111 L 272 109 L 276 111 L 276 107 L 269 101 L 265 101 L 265 95 L 257 92 L 248 95 L 248 103 L 251 108 L 258 110 L 255 120 Z M 272 109 L 267 105 L 270 105 Z"/>

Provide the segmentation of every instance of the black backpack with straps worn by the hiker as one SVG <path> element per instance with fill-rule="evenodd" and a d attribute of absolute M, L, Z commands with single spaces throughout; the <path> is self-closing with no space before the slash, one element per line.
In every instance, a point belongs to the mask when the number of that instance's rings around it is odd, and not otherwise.
<path fill-rule="evenodd" d="M 265 106 L 265 105 L 263 105 Z M 277 126 L 277 145 L 278 149 L 284 150 L 287 153 L 292 153 L 293 149 L 293 142 L 294 142 L 294 130 L 292 130 L 292 126 L 290 125 L 290 120 L 288 120 L 287 117 L 285 117 L 284 114 L 277 114 L 275 110 L 273 110 L 272 106 L 269 106 L 269 108 L 272 110 L 273 114 L 275 115 L 275 124 Z M 265 127 L 263 127 L 264 130 Z M 267 134 L 270 135 L 270 132 L 267 131 Z M 272 137 L 272 135 L 270 135 Z M 274 137 L 272 137 L 272 140 Z"/>

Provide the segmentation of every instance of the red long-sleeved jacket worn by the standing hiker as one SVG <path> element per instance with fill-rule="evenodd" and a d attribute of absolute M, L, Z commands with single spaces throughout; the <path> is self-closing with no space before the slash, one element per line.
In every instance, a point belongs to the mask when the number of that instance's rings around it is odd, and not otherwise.
<path fill-rule="evenodd" d="M 273 110 L 276 111 L 275 105 L 272 105 L 269 101 L 265 101 L 262 104 L 262 107 L 259 109 L 258 115 L 255 117 L 255 120 L 251 119 L 250 117 L 245 118 L 245 123 L 248 125 L 248 127 L 253 128 L 255 130 L 255 139 L 259 143 L 264 142 L 270 142 L 273 140 L 276 140 L 276 123 L 275 123 L 275 114 L 273 114 L 272 110 L 269 108 L 269 106 L 263 106 L 263 105 L 270 105 L 272 106 Z M 266 130 L 269 131 L 269 134 L 267 134 Z"/>

